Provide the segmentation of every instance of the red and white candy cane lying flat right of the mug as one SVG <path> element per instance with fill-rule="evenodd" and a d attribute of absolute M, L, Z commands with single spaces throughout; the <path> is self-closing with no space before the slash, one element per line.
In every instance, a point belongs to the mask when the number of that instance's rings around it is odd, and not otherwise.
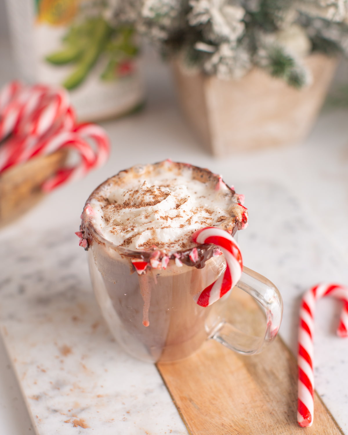
<path fill-rule="evenodd" d="M 298 333 L 298 413 L 300 426 L 311 426 L 314 417 L 314 314 L 315 301 L 333 296 L 343 301 L 337 329 L 339 337 L 348 336 L 348 288 L 338 284 L 319 284 L 308 290 L 302 298 Z"/>

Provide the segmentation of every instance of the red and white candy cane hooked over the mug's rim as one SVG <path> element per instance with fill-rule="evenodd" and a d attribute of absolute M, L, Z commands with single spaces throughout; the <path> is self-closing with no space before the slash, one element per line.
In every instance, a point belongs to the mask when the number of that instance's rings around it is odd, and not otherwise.
<path fill-rule="evenodd" d="M 202 228 L 192 235 L 192 239 L 199 244 L 218 246 L 227 263 L 224 274 L 194 297 L 198 305 L 207 307 L 222 298 L 240 280 L 243 270 L 241 251 L 231 234 L 221 228 Z"/>

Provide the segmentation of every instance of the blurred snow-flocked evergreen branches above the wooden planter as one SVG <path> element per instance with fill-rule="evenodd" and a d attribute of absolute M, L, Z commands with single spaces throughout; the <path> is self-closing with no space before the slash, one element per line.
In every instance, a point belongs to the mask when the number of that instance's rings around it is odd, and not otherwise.
<path fill-rule="evenodd" d="M 114 0 L 167 56 L 219 78 L 254 65 L 294 87 L 308 83 L 312 51 L 348 54 L 348 0 Z"/>

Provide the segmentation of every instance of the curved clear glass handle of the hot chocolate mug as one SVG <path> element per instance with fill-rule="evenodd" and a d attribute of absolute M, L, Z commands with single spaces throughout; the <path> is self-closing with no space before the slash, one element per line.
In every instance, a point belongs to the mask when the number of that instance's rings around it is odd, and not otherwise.
<path fill-rule="evenodd" d="M 245 266 L 236 287 L 250 294 L 264 309 L 267 321 L 264 337 L 245 334 L 231 323 L 222 321 L 214 328 L 209 338 L 238 353 L 254 355 L 277 335 L 283 313 L 283 301 L 278 288 L 271 281 Z"/>

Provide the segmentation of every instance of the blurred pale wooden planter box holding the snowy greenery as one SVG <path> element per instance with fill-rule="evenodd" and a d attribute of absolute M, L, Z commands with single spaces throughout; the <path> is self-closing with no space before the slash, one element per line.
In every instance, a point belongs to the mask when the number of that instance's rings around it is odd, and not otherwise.
<path fill-rule="evenodd" d="M 173 64 L 180 104 L 200 140 L 215 156 L 234 151 L 296 144 L 311 130 L 337 59 L 305 59 L 312 84 L 297 90 L 254 68 L 241 80 L 187 74 Z"/>

